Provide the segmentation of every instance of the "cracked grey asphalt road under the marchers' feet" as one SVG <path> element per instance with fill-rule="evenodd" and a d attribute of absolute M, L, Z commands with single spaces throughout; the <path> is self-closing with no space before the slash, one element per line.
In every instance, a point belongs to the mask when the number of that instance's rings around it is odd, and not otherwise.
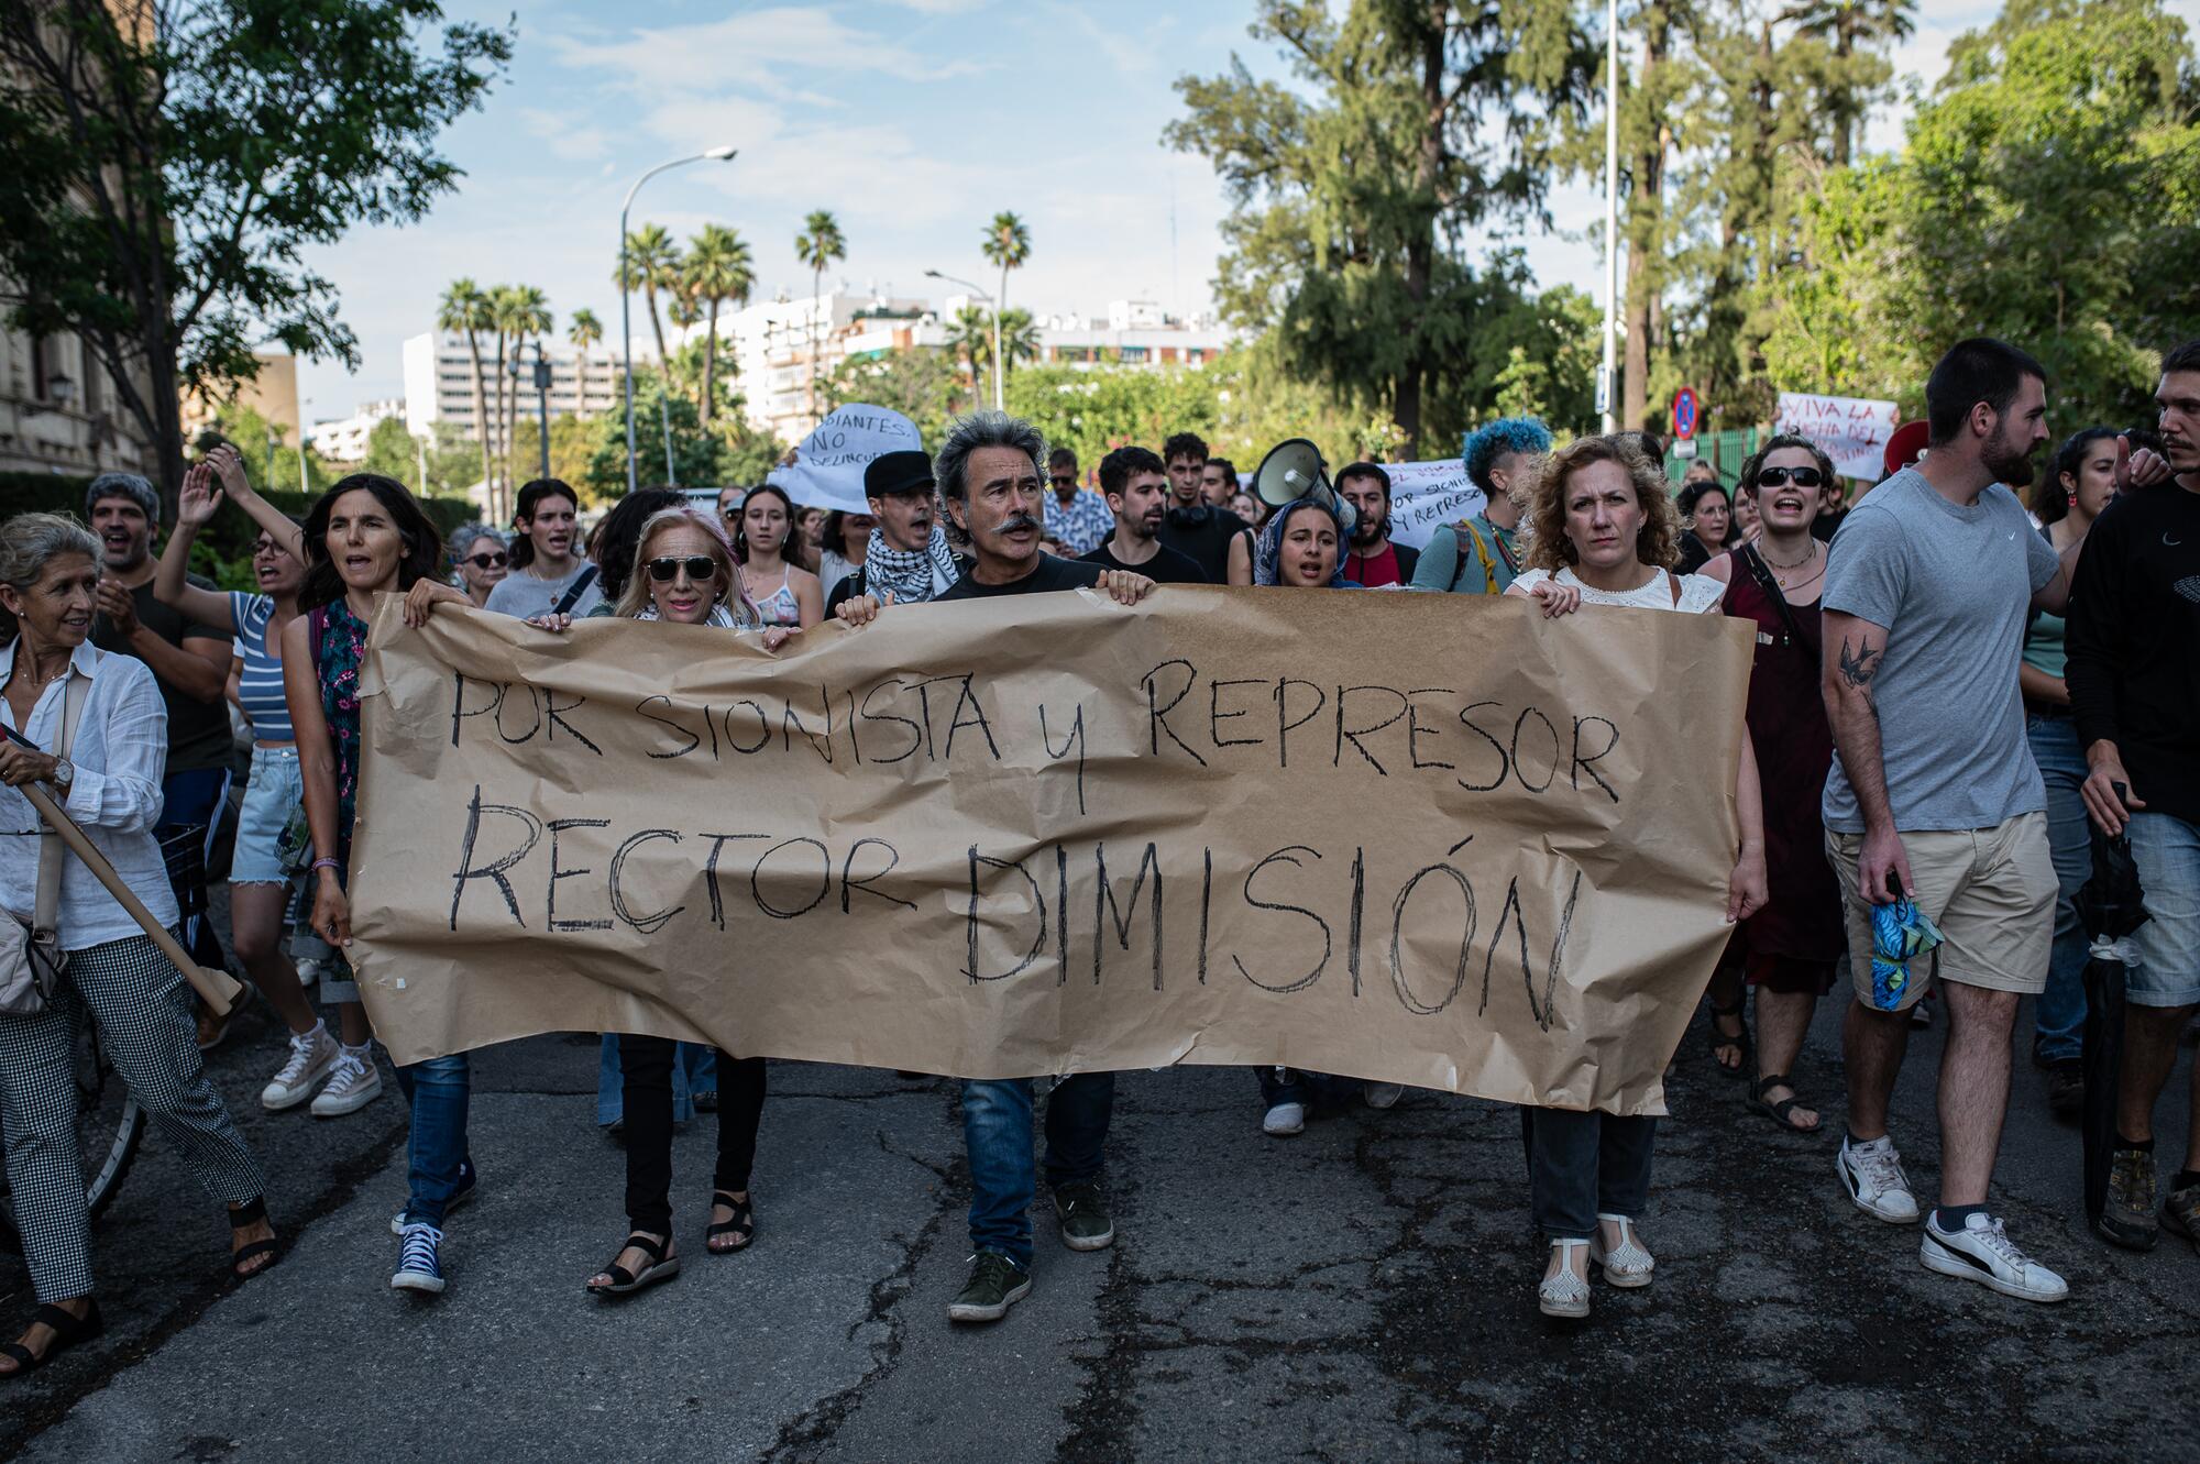
<path fill-rule="evenodd" d="M 1839 1121 L 1822 1013 L 1802 1064 Z M 2191 1460 L 2200 1257 L 2110 1251 L 2079 1218 L 2079 1145 L 2020 1068 L 1995 1200 L 2064 1271 L 2039 1308 L 1936 1277 L 1916 1231 L 1857 1213 L 1830 1139 L 1778 1134 L 1681 1049 L 1643 1235 L 1659 1279 L 1536 1315 L 1516 1114 L 1432 1093 L 1258 1132 L 1243 1071 L 1131 1073 L 1109 1185 L 1118 1242 L 1038 1224 L 1036 1288 L 955 1328 L 964 1279 L 953 1086 L 774 1064 L 759 1240 L 708 1257 L 708 1119 L 675 1152 L 686 1271 L 625 1304 L 581 1290 L 625 1233 L 594 1130 L 594 1038 L 484 1053 L 484 1198 L 451 1290 L 387 1290 L 403 1108 L 260 1112 L 277 1035 L 213 1057 L 275 1176 L 288 1257 L 222 1282 L 222 1224 L 158 1141 L 97 1227 L 110 1334 L 0 1385 L 24 1460 Z M 1921 1033 L 1896 1101 L 1910 1176 L 1938 1147 Z M 2189 1062 L 2189 1053 L 2187 1060 Z M 2182 1093 L 2185 1073 L 2171 1086 Z M 2182 1101 L 2160 1145 L 2182 1143 Z M 1045 1198 L 1041 1198 L 1045 1207 Z M 1043 1213 L 1047 1213 L 1043 1209 Z M 29 1310 L 0 1257 L 0 1328 Z"/>

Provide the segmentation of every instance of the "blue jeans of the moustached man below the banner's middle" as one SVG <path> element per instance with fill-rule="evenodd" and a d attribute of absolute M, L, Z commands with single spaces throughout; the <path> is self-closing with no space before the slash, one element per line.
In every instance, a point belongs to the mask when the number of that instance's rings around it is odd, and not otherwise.
<path fill-rule="evenodd" d="M 1047 1185 L 1100 1178 L 1113 1073 L 1071 1073 L 1047 1095 Z M 1032 1079 L 964 1082 L 970 1154 L 970 1249 L 1032 1264 Z"/>

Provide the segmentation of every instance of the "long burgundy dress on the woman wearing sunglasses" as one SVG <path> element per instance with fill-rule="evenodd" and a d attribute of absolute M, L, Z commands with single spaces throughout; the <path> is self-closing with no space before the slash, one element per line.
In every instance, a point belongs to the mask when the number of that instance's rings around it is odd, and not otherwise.
<path fill-rule="evenodd" d="M 1764 798 L 1764 875 L 1771 901 L 1742 923 L 1749 976 L 1758 980 L 1767 956 L 1835 963 L 1846 943 L 1841 886 L 1826 862 L 1826 824 L 1819 796 L 1833 767 L 1833 725 L 1819 699 L 1817 605 L 1791 605 L 1808 644 L 1795 644 L 1786 618 L 1734 558 L 1723 609 L 1758 626 L 1758 655 L 1749 673 L 1749 739 L 1758 754 Z"/>

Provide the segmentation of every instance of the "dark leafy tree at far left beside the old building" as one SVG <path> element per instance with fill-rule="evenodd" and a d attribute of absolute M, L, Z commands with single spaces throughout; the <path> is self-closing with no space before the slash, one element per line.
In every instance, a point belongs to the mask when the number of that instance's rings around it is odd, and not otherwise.
<path fill-rule="evenodd" d="M 304 255 L 453 189 L 438 134 L 510 51 L 429 0 L 0 0 L 9 319 L 90 345 L 174 495 L 185 391 L 268 339 L 359 365 Z"/>

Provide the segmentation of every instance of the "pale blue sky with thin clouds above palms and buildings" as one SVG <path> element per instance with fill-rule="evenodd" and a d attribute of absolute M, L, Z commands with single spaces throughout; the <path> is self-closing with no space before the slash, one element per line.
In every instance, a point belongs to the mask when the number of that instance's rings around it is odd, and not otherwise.
<path fill-rule="evenodd" d="M 515 7 L 447 9 L 504 22 Z M 1918 35 L 1896 64 L 1929 81 L 1947 42 L 2000 7 L 1918 9 Z M 2171 9 L 2200 24 L 2200 0 Z M 398 396 L 403 339 L 427 330 L 460 275 L 541 286 L 559 332 L 585 306 L 616 339 L 620 198 L 642 169 L 719 143 L 741 156 L 653 178 L 634 220 L 680 237 L 704 222 L 739 229 L 759 297 L 810 290 L 794 259 L 810 209 L 832 209 L 849 242 L 827 279 L 933 299 L 944 288 L 926 268 L 988 281 L 981 226 L 1014 209 L 1032 229 L 1032 259 L 1010 279 L 1012 306 L 1098 314 L 1135 297 L 1206 308 L 1225 207 L 1203 158 L 1162 147 L 1179 114 L 1170 84 L 1221 70 L 1232 51 L 1280 75 L 1274 53 L 1245 35 L 1245 0 L 563 0 L 517 11 L 508 77 L 444 134 L 447 156 L 466 169 L 458 193 L 422 224 L 361 229 L 310 257 L 341 290 L 363 356 L 356 376 L 301 363 L 310 420 Z M 1872 141 L 1899 136 L 1901 108 L 1890 108 Z M 1558 235 L 1531 251 L 1540 277 L 1602 299 L 1588 237 L 1602 226 L 1597 193 L 1560 189 L 1553 211 Z"/>

